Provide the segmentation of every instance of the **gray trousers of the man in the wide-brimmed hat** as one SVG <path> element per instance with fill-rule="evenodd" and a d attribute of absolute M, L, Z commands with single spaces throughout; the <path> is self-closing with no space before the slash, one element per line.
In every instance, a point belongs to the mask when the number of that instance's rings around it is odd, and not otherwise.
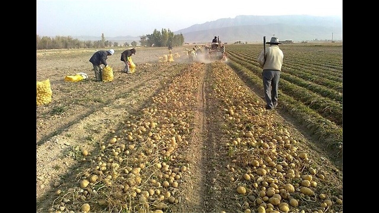
<path fill-rule="evenodd" d="M 266 107 L 268 108 L 274 108 L 278 104 L 279 78 L 280 71 L 269 69 L 263 70 L 263 88 L 265 89 Z"/>

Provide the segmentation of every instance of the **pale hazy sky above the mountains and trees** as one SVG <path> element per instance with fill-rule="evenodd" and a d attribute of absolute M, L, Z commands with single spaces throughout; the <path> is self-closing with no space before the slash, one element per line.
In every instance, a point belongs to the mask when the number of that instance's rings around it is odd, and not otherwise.
<path fill-rule="evenodd" d="M 141 36 L 238 15 L 342 17 L 342 0 L 37 0 L 37 34 Z"/>

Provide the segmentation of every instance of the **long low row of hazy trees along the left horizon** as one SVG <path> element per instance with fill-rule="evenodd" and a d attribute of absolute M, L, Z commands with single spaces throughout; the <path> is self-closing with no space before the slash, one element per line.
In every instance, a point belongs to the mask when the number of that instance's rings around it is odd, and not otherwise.
<path fill-rule="evenodd" d="M 50 38 L 48 36 L 41 37 L 37 35 L 37 50 L 104 48 L 111 46 L 116 47 L 118 43 L 105 40 L 104 33 L 102 33 L 101 40 L 99 41 L 80 41 L 71 36 L 55 36 L 55 38 Z M 129 44 L 125 42 L 125 46 L 129 46 Z M 137 42 L 133 41 L 132 46 L 137 46 Z"/>

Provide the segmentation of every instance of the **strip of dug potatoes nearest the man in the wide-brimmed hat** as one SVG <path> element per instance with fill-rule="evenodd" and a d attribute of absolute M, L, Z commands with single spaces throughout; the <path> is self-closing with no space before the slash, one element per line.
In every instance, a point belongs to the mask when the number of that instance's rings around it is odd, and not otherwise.
<path fill-rule="evenodd" d="M 341 185 L 333 190 L 327 186 L 332 174 L 310 159 L 301 141 L 278 122 L 275 113 L 264 109 L 233 71 L 222 63 L 212 66 L 213 97 L 221 102 L 220 120 L 229 138 L 220 152 L 228 156 L 229 187 L 235 188 L 238 198 L 232 211 L 341 211 Z"/>

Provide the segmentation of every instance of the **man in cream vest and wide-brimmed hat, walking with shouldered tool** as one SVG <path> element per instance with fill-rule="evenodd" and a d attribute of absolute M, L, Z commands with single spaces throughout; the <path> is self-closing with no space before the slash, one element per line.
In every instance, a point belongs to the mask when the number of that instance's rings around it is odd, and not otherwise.
<path fill-rule="evenodd" d="M 258 63 L 263 67 L 262 80 L 265 89 L 266 109 L 271 110 L 278 104 L 278 85 L 283 64 L 283 52 L 279 49 L 279 39 L 272 37 L 266 51 L 262 50 Z M 266 55 L 265 55 L 266 52 Z"/>

